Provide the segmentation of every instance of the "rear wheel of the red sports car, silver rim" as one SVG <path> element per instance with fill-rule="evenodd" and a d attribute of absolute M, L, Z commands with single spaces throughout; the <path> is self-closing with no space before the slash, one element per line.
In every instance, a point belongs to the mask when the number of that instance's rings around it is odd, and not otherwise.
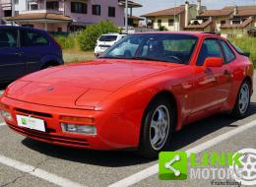
<path fill-rule="evenodd" d="M 246 116 L 251 99 L 251 86 L 248 81 L 244 81 L 236 97 L 235 105 L 232 109 L 231 116 L 241 119 Z"/>

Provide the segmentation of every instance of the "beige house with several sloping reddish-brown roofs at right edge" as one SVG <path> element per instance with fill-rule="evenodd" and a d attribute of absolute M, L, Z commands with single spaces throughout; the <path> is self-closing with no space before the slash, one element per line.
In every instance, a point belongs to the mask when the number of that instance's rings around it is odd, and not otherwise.
<path fill-rule="evenodd" d="M 256 36 L 256 6 L 230 6 L 205 10 L 190 21 L 186 31 L 219 32 L 224 37 L 251 34 Z"/>

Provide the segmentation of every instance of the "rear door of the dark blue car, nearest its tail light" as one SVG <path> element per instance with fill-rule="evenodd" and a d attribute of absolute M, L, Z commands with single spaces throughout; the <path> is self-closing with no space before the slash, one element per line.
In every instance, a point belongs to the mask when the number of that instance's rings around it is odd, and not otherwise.
<path fill-rule="evenodd" d="M 40 70 L 43 58 L 50 55 L 49 41 L 39 31 L 21 29 L 21 51 L 26 58 L 27 73 Z"/>

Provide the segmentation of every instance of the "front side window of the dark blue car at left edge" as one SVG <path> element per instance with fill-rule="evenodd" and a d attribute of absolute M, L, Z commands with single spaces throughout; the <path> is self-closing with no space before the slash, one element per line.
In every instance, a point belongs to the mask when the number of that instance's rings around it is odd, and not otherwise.
<path fill-rule="evenodd" d="M 0 31 L 0 48 L 17 47 L 18 31 L 1 30 Z"/>

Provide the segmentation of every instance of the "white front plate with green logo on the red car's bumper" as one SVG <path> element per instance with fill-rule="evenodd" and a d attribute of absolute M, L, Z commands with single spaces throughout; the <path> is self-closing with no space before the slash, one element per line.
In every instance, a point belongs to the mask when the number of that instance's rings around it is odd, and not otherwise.
<path fill-rule="evenodd" d="M 43 120 L 24 115 L 17 115 L 16 117 L 18 121 L 18 126 L 45 132 L 45 125 Z"/>

